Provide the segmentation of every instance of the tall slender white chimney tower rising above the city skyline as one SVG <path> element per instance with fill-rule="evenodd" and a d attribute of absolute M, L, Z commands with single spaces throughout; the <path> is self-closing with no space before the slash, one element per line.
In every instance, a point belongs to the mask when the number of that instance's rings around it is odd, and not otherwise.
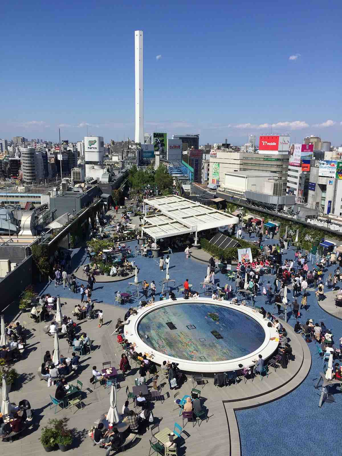
<path fill-rule="evenodd" d="M 143 31 L 135 32 L 135 142 L 144 144 Z"/>

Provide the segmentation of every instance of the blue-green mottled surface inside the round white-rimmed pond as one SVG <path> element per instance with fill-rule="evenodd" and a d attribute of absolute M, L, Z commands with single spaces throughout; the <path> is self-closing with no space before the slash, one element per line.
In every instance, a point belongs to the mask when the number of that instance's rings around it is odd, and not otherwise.
<path fill-rule="evenodd" d="M 246 356 L 265 338 L 264 329 L 254 318 L 206 303 L 152 310 L 140 321 L 138 334 L 149 347 L 166 356 L 200 362 Z"/>

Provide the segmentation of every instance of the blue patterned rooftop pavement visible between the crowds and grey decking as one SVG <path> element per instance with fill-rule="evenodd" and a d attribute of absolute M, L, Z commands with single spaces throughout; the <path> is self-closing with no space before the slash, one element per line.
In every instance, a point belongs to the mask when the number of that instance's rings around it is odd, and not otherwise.
<path fill-rule="evenodd" d="M 247 236 L 249 240 L 249 237 Z M 254 237 L 251 238 L 251 241 Z M 273 244 L 274 240 L 267 240 L 263 244 Z M 133 247 L 136 241 L 130 243 Z M 286 258 L 294 259 L 295 250 L 285 252 L 283 260 Z M 170 278 L 176 280 L 176 285 L 183 284 L 186 278 L 193 284 L 193 289 L 203 292 L 200 288 L 200 282 L 206 275 L 206 266 L 192 259 L 186 259 L 183 252 L 170 255 Z M 149 283 L 155 280 L 157 285 L 157 295 L 161 291 L 161 280 L 165 277 L 165 270 L 159 270 L 159 262 L 155 259 L 147 259 L 138 256 L 134 259 L 140 268 L 139 280 L 146 279 Z M 75 249 L 73 254 L 73 268 L 78 264 L 87 262 L 84 249 Z M 334 266 L 330 266 L 325 272 L 323 282 L 329 272 L 333 272 Z M 264 276 L 262 280 L 269 280 L 273 286 L 275 276 Z M 93 299 L 98 302 L 104 302 L 114 305 L 114 295 L 117 290 L 126 291 L 128 282 L 124 280 L 116 283 L 95 284 L 93 290 Z M 216 281 L 224 285 L 227 280 L 223 275 L 217 274 Z M 80 281 L 78 281 L 80 283 Z M 232 282 L 233 285 L 233 282 Z M 339 283 L 341 285 L 341 283 Z M 326 288 L 326 287 L 325 287 Z M 262 290 L 262 287 L 260 288 Z M 70 290 L 62 290 L 62 286 L 55 289 L 53 284 L 41 286 L 39 292 L 60 295 L 63 299 L 74 298 L 75 295 Z M 338 339 L 342 337 L 342 321 L 328 315 L 322 311 L 317 304 L 314 290 L 308 290 L 308 307 L 309 311 L 303 311 L 301 322 L 312 318 L 316 321 L 324 321 L 327 328 L 332 330 L 335 345 L 338 347 Z M 331 291 L 328 292 L 332 293 Z M 79 294 L 78 294 L 79 296 Z M 140 298 L 141 299 L 141 298 Z M 301 297 L 298 300 L 300 302 Z M 135 299 L 135 305 L 138 300 Z M 292 293 L 288 294 L 288 301 L 292 301 Z M 266 310 L 273 311 L 273 305 L 266 305 L 266 298 L 261 293 L 255 298 L 257 306 L 264 306 Z M 132 305 L 126 304 L 126 307 Z M 290 325 L 295 325 L 295 319 L 290 318 Z M 265 455 L 276 454 L 285 455 L 318 455 L 322 452 L 330 456 L 340 455 L 341 448 L 339 444 L 339 432 L 341 429 L 341 406 L 342 394 L 339 391 L 331 389 L 334 392 L 336 403 L 325 403 L 321 408 L 318 407 L 319 391 L 314 389 L 314 380 L 318 373 L 323 370 L 323 362 L 317 356 L 317 344 L 311 342 L 308 344 L 312 356 L 311 371 L 301 386 L 294 392 L 288 394 L 282 399 L 278 399 L 270 404 L 256 407 L 254 409 L 237 411 L 237 420 L 240 430 L 242 455 Z M 281 369 L 280 369 L 281 370 Z M 248 388 L 248 383 L 246 388 Z M 305 448 L 305 449 L 304 449 Z"/>

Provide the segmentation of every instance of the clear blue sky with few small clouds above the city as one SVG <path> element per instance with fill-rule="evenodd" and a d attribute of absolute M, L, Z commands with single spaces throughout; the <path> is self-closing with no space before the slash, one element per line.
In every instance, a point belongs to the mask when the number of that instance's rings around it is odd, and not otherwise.
<path fill-rule="evenodd" d="M 2 5 L 0 138 L 134 139 L 140 29 L 145 132 L 342 143 L 341 1 L 116 3 Z"/>

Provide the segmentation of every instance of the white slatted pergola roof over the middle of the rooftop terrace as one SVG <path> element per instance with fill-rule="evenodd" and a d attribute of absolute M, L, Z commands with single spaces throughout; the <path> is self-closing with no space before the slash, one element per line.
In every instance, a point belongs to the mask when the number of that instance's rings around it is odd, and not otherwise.
<path fill-rule="evenodd" d="M 149 206 L 158 212 L 146 215 Z M 161 239 L 195 233 L 195 244 L 199 231 L 238 223 L 238 217 L 176 195 L 145 199 L 144 214 L 142 235 L 145 232 L 151 238 Z"/>

